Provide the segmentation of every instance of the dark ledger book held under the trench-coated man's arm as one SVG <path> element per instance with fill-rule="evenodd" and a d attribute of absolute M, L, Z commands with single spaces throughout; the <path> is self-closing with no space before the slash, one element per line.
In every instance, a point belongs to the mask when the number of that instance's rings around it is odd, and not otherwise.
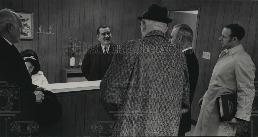
<path fill-rule="evenodd" d="M 220 100 L 221 98 L 221 100 Z M 236 114 L 236 95 L 227 94 L 216 98 L 220 122 L 230 121 Z"/>

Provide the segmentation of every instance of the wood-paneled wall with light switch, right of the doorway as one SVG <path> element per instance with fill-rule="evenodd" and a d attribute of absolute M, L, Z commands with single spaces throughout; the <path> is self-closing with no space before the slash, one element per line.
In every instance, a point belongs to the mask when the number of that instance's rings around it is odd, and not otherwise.
<path fill-rule="evenodd" d="M 162 6 L 188 7 L 201 6 L 199 28 L 195 54 L 199 62 L 199 78 L 192 102 L 192 119 L 198 119 L 200 107 L 198 100 L 208 89 L 213 68 L 221 47 L 219 38 L 225 25 L 238 23 L 245 29 L 245 37 L 241 40 L 245 51 L 251 56 L 255 66 L 255 81 L 258 81 L 258 1 L 162 1 Z M 186 23 L 187 24 L 187 23 Z M 211 52 L 211 58 L 203 59 L 203 52 Z M 258 86 L 258 85 L 257 85 Z"/>

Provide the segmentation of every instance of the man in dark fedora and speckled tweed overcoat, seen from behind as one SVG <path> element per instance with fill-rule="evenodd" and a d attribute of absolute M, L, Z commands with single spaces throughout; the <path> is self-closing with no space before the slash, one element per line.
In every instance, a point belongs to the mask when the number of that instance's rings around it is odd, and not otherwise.
<path fill-rule="evenodd" d="M 126 54 L 114 54 L 100 100 L 118 113 L 113 136 L 177 136 L 189 109 L 186 58 L 164 36 L 172 21 L 166 7 L 152 4 L 138 19 L 142 38 L 123 42 Z"/>

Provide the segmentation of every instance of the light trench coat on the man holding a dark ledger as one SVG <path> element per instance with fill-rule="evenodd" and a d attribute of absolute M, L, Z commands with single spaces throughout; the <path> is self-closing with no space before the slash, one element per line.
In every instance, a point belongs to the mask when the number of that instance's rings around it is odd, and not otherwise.
<path fill-rule="evenodd" d="M 225 54 L 224 54 L 224 53 Z M 237 112 L 235 117 L 250 121 L 254 99 L 255 65 L 242 45 L 224 50 L 212 73 L 208 90 L 203 96 L 198 121 L 193 136 L 234 136 L 237 126 L 231 122 L 219 122 L 217 97 L 224 94 L 237 95 Z M 243 125 L 243 128 L 247 128 Z"/>

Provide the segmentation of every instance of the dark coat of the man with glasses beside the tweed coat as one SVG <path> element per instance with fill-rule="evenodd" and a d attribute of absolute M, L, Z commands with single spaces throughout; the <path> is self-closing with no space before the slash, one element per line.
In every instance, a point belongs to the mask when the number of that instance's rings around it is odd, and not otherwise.
<path fill-rule="evenodd" d="M 189 132 L 191 130 L 191 104 L 193 100 L 193 95 L 195 92 L 198 75 L 199 75 L 199 64 L 193 49 L 188 49 L 184 52 L 186 56 L 187 69 L 189 73 L 189 82 L 190 82 L 190 108 L 187 113 L 182 115 L 179 132 Z"/>

